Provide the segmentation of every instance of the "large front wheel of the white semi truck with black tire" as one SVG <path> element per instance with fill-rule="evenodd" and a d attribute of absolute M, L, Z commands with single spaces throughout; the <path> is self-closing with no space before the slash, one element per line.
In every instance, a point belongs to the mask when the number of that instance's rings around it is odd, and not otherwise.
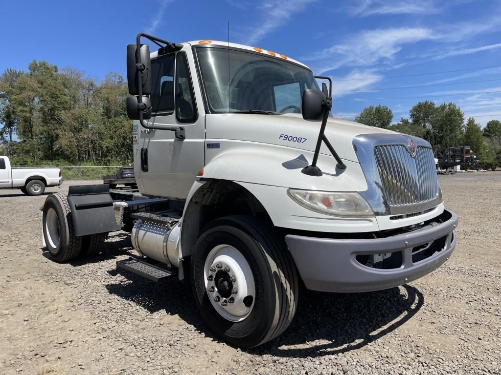
<path fill-rule="evenodd" d="M 195 301 L 211 330 L 252 347 L 280 335 L 298 302 L 296 267 L 284 240 L 252 216 L 209 223 L 191 259 Z"/>

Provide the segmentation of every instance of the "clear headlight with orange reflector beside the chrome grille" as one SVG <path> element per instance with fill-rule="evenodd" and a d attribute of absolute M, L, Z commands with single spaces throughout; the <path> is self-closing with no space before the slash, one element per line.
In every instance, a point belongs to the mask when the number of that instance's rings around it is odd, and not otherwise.
<path fill-rule="evenodd" d="M 332 192 L 289 189 L 287 193 L 302 206 L 336 216 L 373 215 L 369 204 L 357 192 Z"/>

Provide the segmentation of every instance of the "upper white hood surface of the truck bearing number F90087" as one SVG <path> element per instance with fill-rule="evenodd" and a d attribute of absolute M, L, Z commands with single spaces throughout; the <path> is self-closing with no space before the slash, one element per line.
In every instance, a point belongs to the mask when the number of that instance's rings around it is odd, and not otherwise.
<path fill-rule="evenodd" d="M 224 113 L 206 115 L 208 139 L 232 139 L 272 143 L 314 151 L 320 131 L 320 121 L 308 121 L 299 113 L 281 115 Z M 367 126 L 358 122 L 329 117 L 325 135 L 345 160 L 358 162 L 353 138 L 360 134 L 400 134 L 391 130 Z M 330 155 L 322 143 L 320 152 Z"/>

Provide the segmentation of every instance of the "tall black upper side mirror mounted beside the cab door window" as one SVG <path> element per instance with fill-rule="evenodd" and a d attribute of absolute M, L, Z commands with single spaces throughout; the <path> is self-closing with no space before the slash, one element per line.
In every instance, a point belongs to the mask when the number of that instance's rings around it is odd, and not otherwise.
<path fill-rule="evenodd" d="M 142 87 L 142 94 L 151 93 L 151 59 L 150 47 L 141 44 L 141 64 L 137 62 L 136 44 L 127 45 L 127 83 L 131 95 L 139 95 L 139 85 Z"/>

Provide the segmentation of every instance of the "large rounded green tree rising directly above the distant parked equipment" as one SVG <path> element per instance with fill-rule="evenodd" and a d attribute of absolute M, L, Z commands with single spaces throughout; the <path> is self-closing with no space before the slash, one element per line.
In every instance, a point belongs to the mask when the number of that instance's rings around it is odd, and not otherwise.
<path fill-rule="evenodd" d="M 442 103 L 435 108 L 431 123 L 431 144 L 435 149 L 463 143 L 464 113 L 454 103 Z"/>

